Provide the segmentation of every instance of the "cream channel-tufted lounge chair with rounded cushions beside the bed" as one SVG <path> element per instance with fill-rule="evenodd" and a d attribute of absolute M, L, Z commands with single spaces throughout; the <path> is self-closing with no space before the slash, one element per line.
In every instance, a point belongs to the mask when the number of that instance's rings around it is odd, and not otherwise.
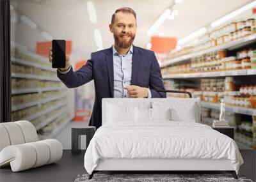
<path fill-rule="evenodd" d="M 13 172 L 54 163 L 61 159 L 58 140 L 38 141 L 35 127 L 29 121 L 0 123 L 0 167 L 11 166 Z"/>

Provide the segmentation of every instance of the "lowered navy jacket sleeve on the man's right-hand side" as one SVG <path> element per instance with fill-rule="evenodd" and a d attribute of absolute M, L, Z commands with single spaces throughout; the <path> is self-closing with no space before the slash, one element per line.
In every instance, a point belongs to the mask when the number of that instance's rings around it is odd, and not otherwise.
<path fill-rule="evenodd" d="M 151 91 L 152 98 L 166 98 L 166 93 L 154 91 L 154 89 L 164 90 L 160 66 L 157 62 L 154 52 L 152 52 L 152 64 L 150 66 L 149 88 Z"/>

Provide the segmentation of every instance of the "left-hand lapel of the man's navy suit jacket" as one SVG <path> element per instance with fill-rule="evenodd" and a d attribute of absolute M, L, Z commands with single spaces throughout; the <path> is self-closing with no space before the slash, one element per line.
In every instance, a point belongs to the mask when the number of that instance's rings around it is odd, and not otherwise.
<path fill-rule="evenodd" d="M 113 49 L 110 47 L 106 51 L 106 57 L 105 61 L 107 62 L 108 67 L 108 78 L 109 78 L 109 87 L 110 87 L 110 93 L 111 97 L 114 97 L 114 70 L 113 70 Z"/>

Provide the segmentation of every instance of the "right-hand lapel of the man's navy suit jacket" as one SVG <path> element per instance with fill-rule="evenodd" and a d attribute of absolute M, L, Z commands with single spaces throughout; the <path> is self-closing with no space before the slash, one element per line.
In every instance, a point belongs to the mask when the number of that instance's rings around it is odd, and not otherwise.
<path fill-rule="evenodd" d="M 137 47 L 133 46 L 133 54 L 132 54 L 132 79 L 131 85 L 136 85 L 136 80 L 138 77 L 138 70 L 140 64 L 140 52 Z"/>

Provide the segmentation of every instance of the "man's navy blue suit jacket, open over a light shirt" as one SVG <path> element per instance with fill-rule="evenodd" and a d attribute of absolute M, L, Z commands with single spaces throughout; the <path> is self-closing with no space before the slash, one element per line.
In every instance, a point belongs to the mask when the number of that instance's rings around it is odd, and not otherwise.
<path fill-rule="evenodd" d="M 113 49 L 100 50 L 91 54 L 91 59 L 74 72 L 58 72 L 58 77 L 68 87 L 78 87 L 94 80 L 95 102 L 89 125 L 102 125 L 102 98 L 113 98 L 114 89 Z M 164 89 L 163 79 L 156 56 L 151 50 L 133 46 L 131 85 L 149 87 L 152 98 L 166 98 L 166 93 L 154 89 Z"/>

